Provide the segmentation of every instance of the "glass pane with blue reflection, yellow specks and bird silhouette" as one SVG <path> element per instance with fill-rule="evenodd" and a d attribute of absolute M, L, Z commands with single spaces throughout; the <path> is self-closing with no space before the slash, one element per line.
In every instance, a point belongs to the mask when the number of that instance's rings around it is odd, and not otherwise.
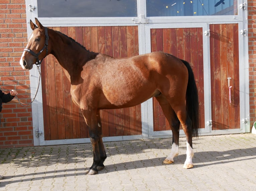
<path fill-rule="evenodd" d="M 146 0 L 147 17 L 237 15 L 237 0 Z"/>

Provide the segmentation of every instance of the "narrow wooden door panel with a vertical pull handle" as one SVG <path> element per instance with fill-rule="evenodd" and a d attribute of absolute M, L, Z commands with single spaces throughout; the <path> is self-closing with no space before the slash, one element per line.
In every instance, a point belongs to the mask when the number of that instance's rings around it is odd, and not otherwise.
<path fill-rule="evenodd" d="M 238 24 L 210 25 L 212 130 L 240 128 Z"/>

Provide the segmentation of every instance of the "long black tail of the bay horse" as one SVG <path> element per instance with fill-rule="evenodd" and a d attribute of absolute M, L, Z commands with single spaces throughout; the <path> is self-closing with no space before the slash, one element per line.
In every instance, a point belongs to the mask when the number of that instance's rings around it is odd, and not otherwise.
<path fill-rule="evenodd" d="M 199 135 L 199 100 L 198 100 L 198 89 L 194 77 L 194 73 L 192 71 L 191 66 L 187 61 L 181 60 L 188 71 L 188 83 L 187 83 L 187 91 L 186 91 L 186 110 L 189 118 L 192 121 L 192 135 Z"/>

